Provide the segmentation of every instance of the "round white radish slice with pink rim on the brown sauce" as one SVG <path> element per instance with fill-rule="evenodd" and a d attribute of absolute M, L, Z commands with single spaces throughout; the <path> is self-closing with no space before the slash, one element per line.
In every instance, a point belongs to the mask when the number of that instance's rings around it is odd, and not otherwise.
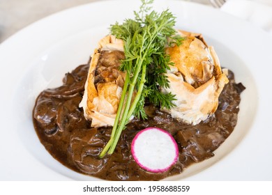
<path fill-rule="evenodd" d="M 138 132 L 131 143 L 133 158 L 146 171 L 167 171 L 179 157 L 176 141 L 169 132 L 149 127 Z"/>

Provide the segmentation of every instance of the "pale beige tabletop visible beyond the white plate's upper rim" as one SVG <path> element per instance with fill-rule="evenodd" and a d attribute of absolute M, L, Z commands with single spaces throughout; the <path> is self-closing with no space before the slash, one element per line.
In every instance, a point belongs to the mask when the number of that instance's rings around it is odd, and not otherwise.
<path fill-rule="evenodd" d="M 104 0 L 0 0 L 0 43 L 20 29 L 53 13 Z M 209 0 L 183 0 L 209 4 Z"/>

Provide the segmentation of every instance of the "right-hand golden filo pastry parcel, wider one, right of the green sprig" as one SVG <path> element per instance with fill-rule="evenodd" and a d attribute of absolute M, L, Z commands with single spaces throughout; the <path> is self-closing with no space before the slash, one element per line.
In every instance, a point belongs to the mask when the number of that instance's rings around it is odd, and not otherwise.
<path fill-rule="evenodd" d="M 206 45 L 201 34 L 179 33 L 185 38 L 183 44 L 166 48 L 174 66 L 166 74 L 170 88 L 163 88 L 176 95 L 176 107 L 164 110 L 196 125 L 216 111 L 218 97 L 229 80 L 222 73 L 213 47 Z"/>

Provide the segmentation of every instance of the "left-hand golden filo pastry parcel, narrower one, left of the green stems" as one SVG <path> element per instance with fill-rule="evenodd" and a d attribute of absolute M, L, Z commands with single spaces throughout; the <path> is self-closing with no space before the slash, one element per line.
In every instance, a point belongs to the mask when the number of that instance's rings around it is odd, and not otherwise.
<path fill-rule="evenodd" d="M 114 124 L 125 76 L 119 71 L 122 59 L 125 59 L 122 40 L 114 36 L 100 40 L 90 62 L 80 102 L 85 118 L 92 120 L 92 127 Z"/>

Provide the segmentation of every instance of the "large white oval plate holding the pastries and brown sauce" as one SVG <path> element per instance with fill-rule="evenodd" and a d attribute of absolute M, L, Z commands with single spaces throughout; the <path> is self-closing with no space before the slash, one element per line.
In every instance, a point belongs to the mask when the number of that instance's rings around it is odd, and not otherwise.
<path fill-rule="evenodd" d="M 31 111 L 40 91 L 59 86 L 66 72 L 88 61 L 109 24 L 133 17 L 138 8 L 139 1 L 78 6 L 31 24 L 0 45 L 0 180 L 95 180 L 47 153 L 33 130 Z M 177 28 L 202 33 L 222 66 L 246 86 L 238 124 L 215 157 L 168 180 L 272 180 L 271 37 L 195 3 L 156 1 L 154 8 L 169 8 Z"/>

